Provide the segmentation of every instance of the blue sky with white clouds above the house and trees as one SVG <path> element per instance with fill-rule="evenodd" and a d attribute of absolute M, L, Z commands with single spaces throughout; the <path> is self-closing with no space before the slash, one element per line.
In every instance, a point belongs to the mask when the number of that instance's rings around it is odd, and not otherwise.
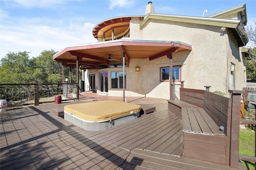
<path fill-rule="evenodd" d="M 256 0 L 0 0 L 0 59 L 9 51 L 61 51 L 97 42 L 93 27 L 108 18 L 143 16 L 148 1 L 156 14 L 204 16 L 246 3 L 248 25 L 256 21 Z"/>

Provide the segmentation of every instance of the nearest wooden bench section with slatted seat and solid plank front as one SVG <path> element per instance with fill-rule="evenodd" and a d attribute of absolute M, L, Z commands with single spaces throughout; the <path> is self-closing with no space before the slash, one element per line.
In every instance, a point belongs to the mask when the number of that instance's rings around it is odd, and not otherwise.
<path fill-rule="evenodd" d="M 182 108 L 183 156 L 226 164 L 226 135 L 204 109 Z"/>

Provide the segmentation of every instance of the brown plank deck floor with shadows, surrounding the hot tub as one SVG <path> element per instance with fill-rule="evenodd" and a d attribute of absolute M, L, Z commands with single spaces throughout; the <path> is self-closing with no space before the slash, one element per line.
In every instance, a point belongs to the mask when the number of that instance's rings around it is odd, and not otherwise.
<path fill-rule="evenodd" d="M 86 131 L 52 114 L 66 104 L 0 113 L 1 170 L 232 169 L 180 157 L 182 124 L 167 102 L 149 104 L 156 111 L 107 131 Z"/>

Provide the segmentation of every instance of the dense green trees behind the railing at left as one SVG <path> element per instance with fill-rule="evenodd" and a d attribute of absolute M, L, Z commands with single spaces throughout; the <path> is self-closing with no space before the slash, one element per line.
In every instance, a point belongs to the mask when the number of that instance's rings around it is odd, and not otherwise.
<path fill-rule="evenodd" d="M 56 51 L 45 50 L 30 59 L 29 52 L 9 52 L 0 61 L 0 83 L 61 83 L 62 63 L 53 59 Z M 64 78 L 69 78 L 69 67 L 64 67 Z M 79 72 L 82 77 L 82 72 Z M 76 82 L 76 69 L 71 70 L 71 82 Z"/>

